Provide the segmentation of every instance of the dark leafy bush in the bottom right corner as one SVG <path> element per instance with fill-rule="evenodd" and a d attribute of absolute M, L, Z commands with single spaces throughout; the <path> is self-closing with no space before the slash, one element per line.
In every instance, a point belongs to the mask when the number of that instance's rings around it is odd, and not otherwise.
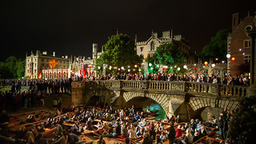
<path fill-rule="evenodd" d="M 242 98 L 238 109 L 230 123 L 229 135 L 234 143 L 254 142 L 254 128 L 256 127 L 256 97 Z"/>

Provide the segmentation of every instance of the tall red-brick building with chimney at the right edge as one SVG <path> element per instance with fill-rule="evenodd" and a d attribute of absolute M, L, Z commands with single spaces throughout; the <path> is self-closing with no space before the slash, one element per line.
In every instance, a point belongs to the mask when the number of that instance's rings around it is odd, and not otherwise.
<path fill-rule="evenodd" d="M 251 40 L 246 33 L 246 26 L 254 26 L 256 15 L 253 17 L 249 13 L 242 20 L 239 14 L 232 14 L 232 33 L 227 38 L 227 53 L 230 58 L 228 62 L 228 74 L 236 76 L 237 74 L 245 74 L 250 76 L 250 50 Z"/>

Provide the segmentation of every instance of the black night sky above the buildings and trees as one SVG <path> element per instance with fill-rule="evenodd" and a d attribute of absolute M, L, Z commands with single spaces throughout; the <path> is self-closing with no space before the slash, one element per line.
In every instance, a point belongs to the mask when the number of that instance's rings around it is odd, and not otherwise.
<path fill-rule="evenodd" d="M 151 31 L 174 30 L 200 52 L 220 29 L 231 29 L 231 14 L 254 15 L 255 0 L 50 0 L 1 1 L 1 58 L 25 58 L 30 50 L 90 57 L 107 38 L 125 33 L 138 41 Z"/>

